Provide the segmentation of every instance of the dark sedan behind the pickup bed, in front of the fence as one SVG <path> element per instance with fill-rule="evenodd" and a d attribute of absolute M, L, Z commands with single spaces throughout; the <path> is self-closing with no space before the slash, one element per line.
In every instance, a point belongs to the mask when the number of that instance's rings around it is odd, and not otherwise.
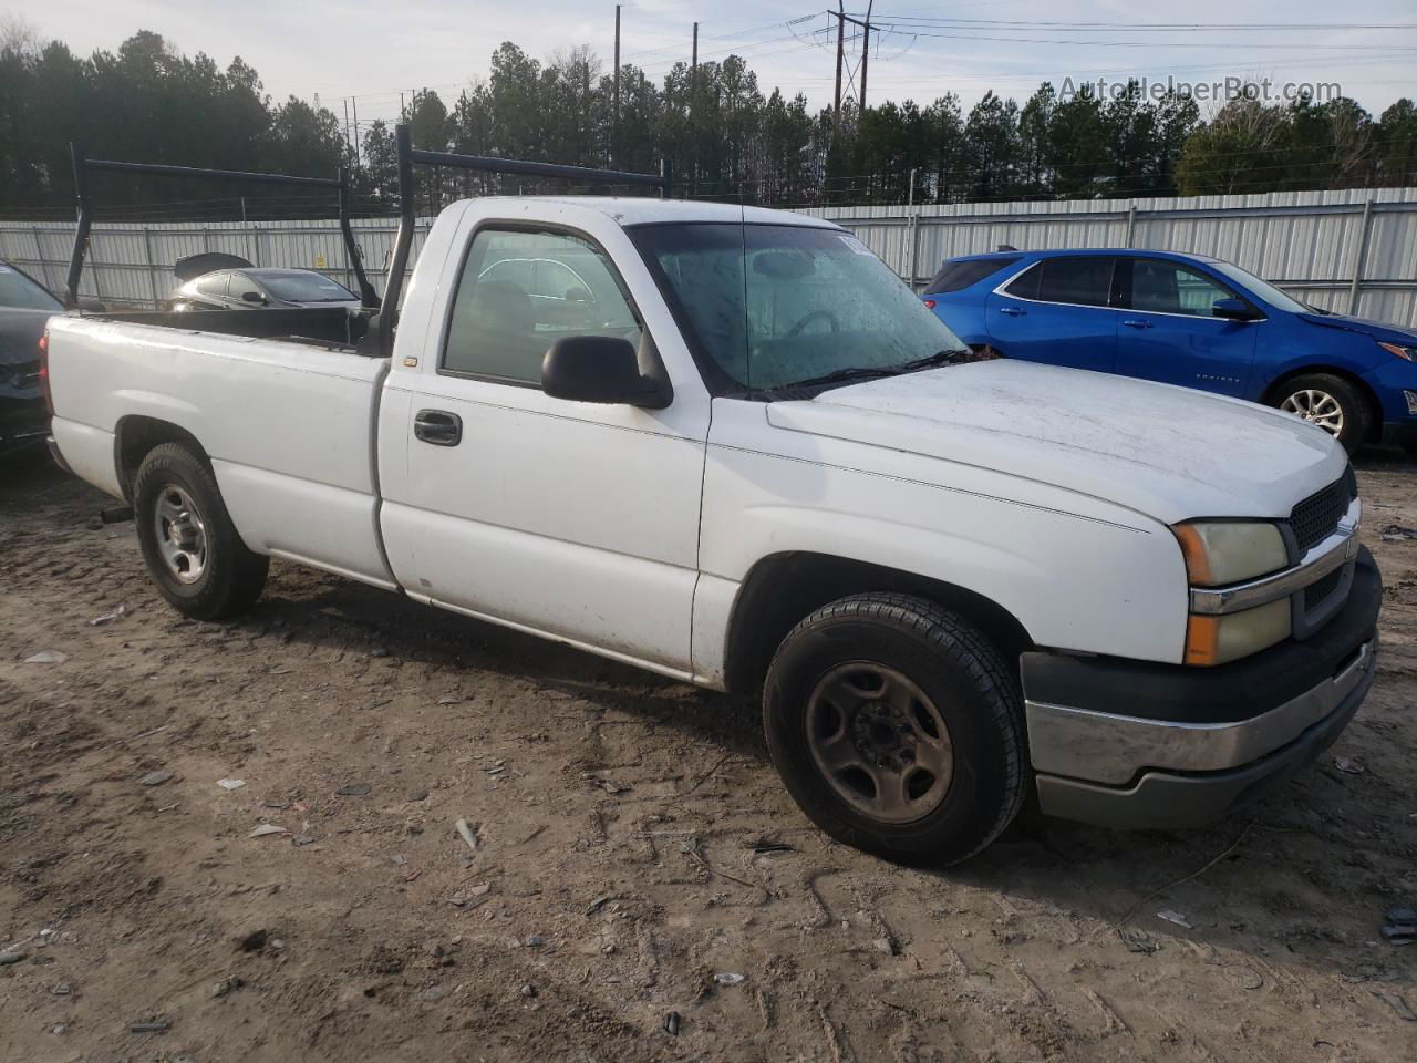
<path fill-rule="evenodd" d="M 357 308 L 344 285 L 315 269 L 254 266 L 237 255 L 193 255 L 177 262 L 186 283 L 173 296 L 177 310 L 269 310 L 307 306 Z"/>

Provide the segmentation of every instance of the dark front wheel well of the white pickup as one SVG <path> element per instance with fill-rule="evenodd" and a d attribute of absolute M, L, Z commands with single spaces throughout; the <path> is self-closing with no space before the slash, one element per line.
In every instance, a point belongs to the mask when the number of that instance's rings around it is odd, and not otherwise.
<path fill-rule="evenodd" d="M 993 639 L 1010 660 L 1033 646 L 1013 614 L 964 587 L 830 554 L 774 554 L 752 567 L 734 602 L 726 660 L 728 690 L 755 694 L 772 655 L 803 617 L 837 598 L 870 591 L 914 594 L 955 609 Z"/>

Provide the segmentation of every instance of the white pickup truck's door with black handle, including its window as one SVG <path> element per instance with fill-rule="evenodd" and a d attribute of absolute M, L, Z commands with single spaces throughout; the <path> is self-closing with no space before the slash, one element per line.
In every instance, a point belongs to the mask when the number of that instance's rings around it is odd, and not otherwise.
<path fill-rule="evenodd" d="M 541 360 L 557 339 L 650 343 L 639 305 L 609 257 L 571 231 L 487 221 L 463 247 L 412 393 L 385 400 L 407 410 L 407 458 L 385 476 L 381 513 L 400 583 L 687 673 L 707 394 L 676 390 L 665 410 L 547 395 Z M 568 323 L 533 298 L 531 271 L 497 268 L 519 259 L 575 262 L 599 293 L 594 319 Z"/>

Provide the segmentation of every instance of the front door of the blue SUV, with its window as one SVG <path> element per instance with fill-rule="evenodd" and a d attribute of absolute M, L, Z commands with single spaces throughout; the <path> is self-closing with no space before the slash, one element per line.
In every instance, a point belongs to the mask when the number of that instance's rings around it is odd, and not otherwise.
<path fill-rule="evenodd" d="M 1216 317 L 1212 310 L 1219 299 L 1238 298 L 1197 266 L 1169 258 L 1124 257 L 1117 283 L 1117 371 L 1244 395 L 1264 322 Z"/>

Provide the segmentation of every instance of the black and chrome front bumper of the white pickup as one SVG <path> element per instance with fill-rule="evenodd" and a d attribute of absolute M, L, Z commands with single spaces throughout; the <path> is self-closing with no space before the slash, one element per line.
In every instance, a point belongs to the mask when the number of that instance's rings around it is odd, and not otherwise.
<path fill-rule="evenodd" d="M 1280 785 L 1338 738 L 1367 694 L 1382 594 L 1362 550 L 1348 602 L 1323 628 L 1230 665 L 1024 653 L 1041 811 L 1100 826 L 1185 828 Z"/>

